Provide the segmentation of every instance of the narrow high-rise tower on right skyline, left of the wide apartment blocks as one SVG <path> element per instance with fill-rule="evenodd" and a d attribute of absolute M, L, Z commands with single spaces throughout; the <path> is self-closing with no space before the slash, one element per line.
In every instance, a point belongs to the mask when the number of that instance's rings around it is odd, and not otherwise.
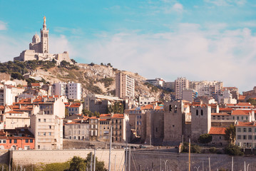
<path fill-rule="evenodd" d="M 185 77 L 180 77 L 175 80 L 175 98 L 176 100 L 182 100 L 183 90 L 189 88 L 189 81 Z"/>

